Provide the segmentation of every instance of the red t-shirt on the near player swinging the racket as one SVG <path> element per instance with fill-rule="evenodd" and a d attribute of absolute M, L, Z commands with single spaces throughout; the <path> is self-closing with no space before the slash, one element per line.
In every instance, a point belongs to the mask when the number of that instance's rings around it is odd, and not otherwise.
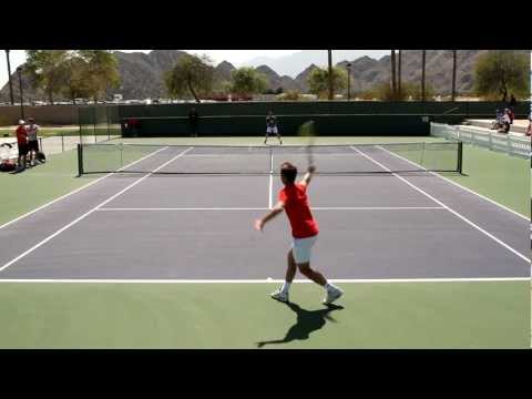
<path fill-rule="evenodd" d="M 279 201 L 285 203 L 294 238 L 313 237 L 319 233 L 318 224 L 310 213 L 305 184 L 286 185 L 279 191 Z"/>

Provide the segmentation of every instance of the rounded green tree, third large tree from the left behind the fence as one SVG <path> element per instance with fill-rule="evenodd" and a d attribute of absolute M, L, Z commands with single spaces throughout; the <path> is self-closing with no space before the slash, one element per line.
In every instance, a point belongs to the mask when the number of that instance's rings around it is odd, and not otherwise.
<path fill-rule="evenodd" d="M 214 86 L 214 68 L 207 55 L 185 54 L 165 73 L 164 82 L 171 96 L 192 94 L 196 102 Z"/>

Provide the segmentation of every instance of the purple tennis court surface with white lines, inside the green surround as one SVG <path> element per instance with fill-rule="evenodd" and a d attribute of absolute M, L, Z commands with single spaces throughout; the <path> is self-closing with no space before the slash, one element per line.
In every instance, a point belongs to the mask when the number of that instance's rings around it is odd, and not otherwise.
<path fill-rule="evenodd" d="M 428 155 L 408 145 L 317 151 L 313 264 L 339 285 L 530 282 L 530 221 L 426 171 L 457 167 L 454 149 Z M 276 202 L 280 162 L 304 166 L 301 147 L 125 149 L 88 147 L 85 172 L 121 173 L 0 228 L 0 280 L 264 283 L 268 301 L 289 229 L 279 218 L 257 233 L 253 221 Z"/>

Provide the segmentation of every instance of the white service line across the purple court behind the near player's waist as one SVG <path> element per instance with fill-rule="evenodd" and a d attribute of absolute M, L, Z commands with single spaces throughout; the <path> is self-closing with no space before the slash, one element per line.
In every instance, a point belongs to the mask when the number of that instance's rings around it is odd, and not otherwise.
<path fill-rule="evenodd" d="M 122 212 L 122 211 L 267 211 L 266 207 L 100 207 L 99 212 Z M 313 211 L 418 211 L 418 209 L 446 209 L 443 206 L 337 206 L 337 207 L 313 207 Z"/>

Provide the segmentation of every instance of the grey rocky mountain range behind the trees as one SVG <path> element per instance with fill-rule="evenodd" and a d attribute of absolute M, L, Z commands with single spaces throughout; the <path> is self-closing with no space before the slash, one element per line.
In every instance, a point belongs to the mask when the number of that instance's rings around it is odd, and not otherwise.
<path fill-rule="evenodd" d="M 471 91 L 473 86 L 474 63 L 479 55 L 484 52 L 484 50 L 458 51 L 457 90 L 460 93 Z M 115 54 L 119 60 L 119 71 L 122 81 L 121 86 L 110 94 L 120 93 L 125 100 L 142 100 L 166 96 L 164 72 L 171 69 L 185 52 L 180 50 L 154 50 L 145 54 L 142 52 L 124 53 L 116 51 Z M 380 60 L 362 57 L 356 60 L 338 62 L 337 65 L 346 68 L 348 62 L 351 63 L 350 70 L 354 92 L 360 92 L 370 89 L 375 84 L 390 80 L 390 55 L 385 55 Z M 310 64 L 295 79 L 288 75 L 280 76 L 268 65 L 257 66 L 256 70 L 266 76 L 268 89 L 270 90 L 283 88 L 285 91 L 298 90 L 300 92 L 307 92 L 307 78 L 315 68 L 317 68 L 315 64 Z M 235 66 L 227 61 L 216 65 L 215 76 L 217 83 L 219 84 L 223 81 L 231 80 L 231 72 L 234 69 Z M 419 82 L 421 80 L 420 50 L 402 51 L 401 75 L 403 82 Z M 433 86 L 437 93 L 449 93 L 452 79 L 452 52 L 450 50 L 428 50 L 426 75 L 427 83 Z M 13 89 L 16 94 L 18 94 L 17 79 L 13 79 Z M 44 95 L 35 92 L 27 81 L 23 82 L 23 90 L 24 99 L 44 100 Z M 0 102 L 7 101 L 9 101 L 8 84 L 0 91 Z"/>

